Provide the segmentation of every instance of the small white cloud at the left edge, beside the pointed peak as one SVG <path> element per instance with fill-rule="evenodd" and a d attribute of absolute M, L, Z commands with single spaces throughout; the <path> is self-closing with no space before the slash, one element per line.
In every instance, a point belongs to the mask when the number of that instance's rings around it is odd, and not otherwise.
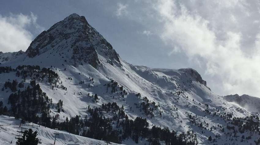
<path fill-rule="evenodd" d="M 37 16 L 32 12 L 30 15 L 10 14 L 0 15 L 0 51 L 13 52 L 25 51 L 32 42 L 33 35 L 28 30 L 35 27 L 42 31 L 43 27 L 37 24 Z"/>

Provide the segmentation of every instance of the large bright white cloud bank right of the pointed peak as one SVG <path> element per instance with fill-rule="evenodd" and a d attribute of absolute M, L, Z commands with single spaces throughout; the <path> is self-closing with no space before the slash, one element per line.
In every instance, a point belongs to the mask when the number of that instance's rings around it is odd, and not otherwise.
<path fill-rule="evenodd" d="M 163 0 L 154 8 L 163 22 L 162 40 L 191 60 L 199 58 L 210 87 L 260 97 L 259 3 Z"/>

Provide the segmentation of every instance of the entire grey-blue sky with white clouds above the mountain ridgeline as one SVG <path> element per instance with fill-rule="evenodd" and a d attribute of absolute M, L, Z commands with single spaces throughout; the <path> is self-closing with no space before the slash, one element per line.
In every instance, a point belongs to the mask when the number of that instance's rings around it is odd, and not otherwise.
<path fill-rule="evenodd" d="M 260 97 L 258 0 L 0 1 L 0 51 L 26 51 L 72 13 L 133 65 L 193 68 L 218 95 Z"/>

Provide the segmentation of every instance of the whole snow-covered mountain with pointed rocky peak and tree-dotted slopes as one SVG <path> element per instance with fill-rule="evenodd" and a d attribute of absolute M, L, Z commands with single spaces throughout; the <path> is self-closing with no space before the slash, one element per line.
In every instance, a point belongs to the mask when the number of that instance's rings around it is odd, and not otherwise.
<path fill-rule="evenodd" d="M 259 142 L 258 113 L 214 94 L 194 69 L 127 63 L 84 16 L 0 61 L 0 114 L 123 144 Z"/>

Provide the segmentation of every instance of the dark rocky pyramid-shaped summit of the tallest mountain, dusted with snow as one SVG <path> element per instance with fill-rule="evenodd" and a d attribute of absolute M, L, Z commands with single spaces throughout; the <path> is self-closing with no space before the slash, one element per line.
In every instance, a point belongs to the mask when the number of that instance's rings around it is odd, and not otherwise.
<path fill-rule="evenodd" d="M 29 58 L 44 53 L 55 57 L 63 54 L 63 60 L 75 66 L 90 64 L 96 68 L 100 58 L 112 65 L 120 64 L 112 45 L 89 25 L 84 16 L 76 13 L 39 34 L 26 51 Z"/>

